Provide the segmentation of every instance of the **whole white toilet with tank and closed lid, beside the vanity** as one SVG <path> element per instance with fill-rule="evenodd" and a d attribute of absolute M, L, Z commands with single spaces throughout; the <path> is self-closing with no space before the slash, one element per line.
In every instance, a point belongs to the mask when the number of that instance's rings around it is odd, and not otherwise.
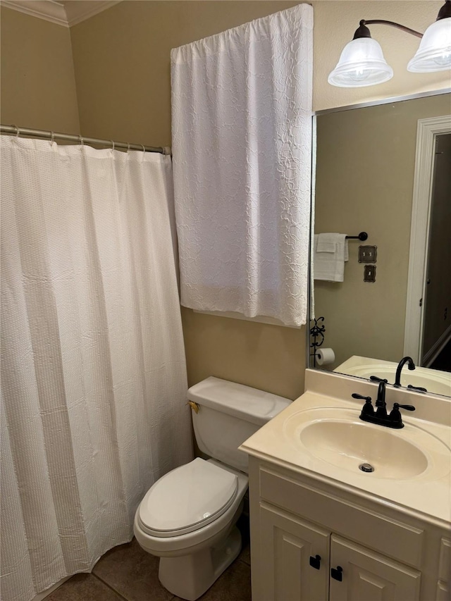
<path fill-rule="evenodd" d="M 241 384 L 206 378 L 188 390 L 197 458 L 166 473 L 135 514 L 144 551 L 160 557 L 159 579 L 173 595 L 194 601 L 241 550 L 235 526 L 247 491 L 247 440 L 291 401 Z"/>

